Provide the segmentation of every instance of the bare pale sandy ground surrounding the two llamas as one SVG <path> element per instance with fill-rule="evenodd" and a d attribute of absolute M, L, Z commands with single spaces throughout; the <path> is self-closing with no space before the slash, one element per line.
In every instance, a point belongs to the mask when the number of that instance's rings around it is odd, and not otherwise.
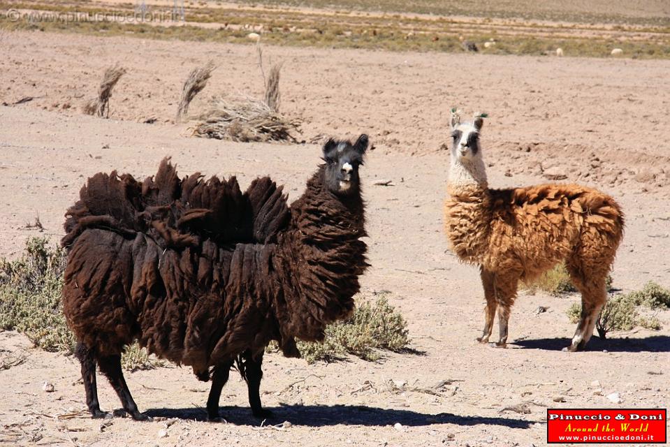
<path fill-rule="evenodd" d="M 242 186 L 272 175 L 296 198 L 319 163 L 316 145 L 201 140 L 170 122 L 180 82 L 207 59 L 220 65 L 210 94 L 259 94 L 253 47 L 38 33 L 6 40 L 0 103 L 36 98 L 0 106 L 0 256 L 17 256 L 30 236 L 59 239 L 66 207 L 85 177 L 101 170 L 144 177 L 171 155 L 181 173 L 238 175 Z M 537 446 L 546 439 L 548 407 L 611 407 L 605 395 L 613 392 L 623 407 L 667 407 L 670 312 L 658 315 L 660 331 L 594 338 L 587 352 L 563 353 L 574 331 L 565 311 L 578 296 L 522 294 L 509 349 L 474 342 L 483 323 L 483 293 L 476 268 L 456 261 L 442 233 L 449 156 L 439 145 L 452 104 L 488 111 L 483 150 L 491 184 L 565 176 L 613 194 L 627 214 L 614 284 L 625 291 L 648 280 L 668 286 L 670 131 L 662 110 L 670 92 L 661 86 L 670 62 L 275 47 L 266 54 L 287 62 L 284 110 L 305 119 L 306 140 L 363 131 L 372 136 L 376 149 L 362 171 L 372 264 L 362 279 L 363 295 L 390 293 L 421 354 L 317 365 L 268 356 L 262 398 L 276 415 L 268 423 L 288 420 L 290 427 L 261 427 L 235 376 L 221 397 L 230 423 L 210 424 L 201 410 L 207 384 L 189 369 L 126 374 L 140 409 L 155 420 L 114 418 L 101 426 L 80 413 L 76 360 L 1 332 L 0 353 L 24 353 L 27 361 L 0 371 L 0 443 Z M 112 119 L 80 115 L 75 108 L 115 60 L 130 70 L 112 98 Z M 64 110 L 65 104 L 71 108 Z M 159 122 L 135 122 L 149 115 Z M 374 186 L 379 180 L 394 186 Z M 44 233 L 26 226 L 37 214 Z M 536 314 L 539 306 L 548 311 Z M 599 387 L 592 386 L 596 380 Z M 54 383 L 54 393 L 43 392 L 43 381 Z M 440 381 L 448 384 L 434 394 L 418 390 Z M 99 390 L 103 409 L 119 406 L 103 379 Z"/>

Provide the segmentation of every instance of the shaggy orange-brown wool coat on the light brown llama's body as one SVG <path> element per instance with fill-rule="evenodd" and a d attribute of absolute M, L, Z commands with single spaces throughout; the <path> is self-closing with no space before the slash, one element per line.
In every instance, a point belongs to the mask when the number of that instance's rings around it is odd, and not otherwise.
<path fill-rule="evenodd" d="M 616 201 L 585 186 L 450 185 L 449 196 L 445 226 L 454 253 L 484 270 L 519 272 L 522 279 L 564 260 L 606 274 L 623 234 Z"/>

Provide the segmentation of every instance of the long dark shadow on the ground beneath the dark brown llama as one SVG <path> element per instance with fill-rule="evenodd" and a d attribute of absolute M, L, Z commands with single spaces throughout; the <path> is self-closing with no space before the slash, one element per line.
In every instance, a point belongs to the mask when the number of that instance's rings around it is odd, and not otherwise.
<path fill-rule="evenodd" d="M 528 428 L 534 420 L 515 418 L 458 416 L 451 413 L 424 414 L 416 411 L 382 409 L 374 406 L 348 405 L 298 405 L 268 408 L 273 416 L 264 425 L 279 424 L 289 420 L 293 425 L 304 427 L 327 427 L 330 425 L 363 425 L 365 427 L 383 427 L 401 423 L 408 427 L 424 425 L 502 425 L 510 428 Z M 235 425 L 261 425 L 261 420 L 251 415 L 246 407 L 222 406 L 221 417 Z M 206 420 L 205 411 L 199 408 L 186 409 L 150 409 L 145 411 L 152 418 L 177 418 L 187 420 Z"/>

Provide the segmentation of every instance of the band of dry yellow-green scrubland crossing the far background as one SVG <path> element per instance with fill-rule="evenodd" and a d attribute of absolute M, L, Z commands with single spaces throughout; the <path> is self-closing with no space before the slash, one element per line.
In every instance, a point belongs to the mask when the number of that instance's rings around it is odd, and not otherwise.
<path fill-rule="evenodd" d="M 267 3 L 273 2 L 267 1 Z M 131 3 L 102 3 L 92 8 L 78 1 L 68 6 L 55 6 L 38 0 L 19 5 L 32 10 L 59 13 L 70 13 L 75 10 L 84 13 L 133 11 Z M 564 15 L 542 13 L 543 18 L 536 21 L 531 20 L 525 11 L 517 20 L 508 20 L 504 18 L 507 17 L 504 14 L 492 18 L 496 15 L 491 8 L 486 8 L 486 13 L 483 10 L 479 10 L 478 13 L 477 8 L 465 7 L 462 13 L 458 13 L 457 11 L 463 6 L 458 8 L 456 3 L 452 3 L 448 8 L 428 8 L 443 11 L 431 17 L 393 13 L 352 13 L 346 10 L 349 8 L 345 8 L 344 11 L 333 11 L 332 4 L 314 6 L 323 9 L 296 10 L 249 5 L 187 6 L 187 23 L 180 26 L 174 26 L 172 22 L 66 23 L 32 22 L 27 19 L 10 22 L 2 15 L 0 25 L 4 23 L 10 29 L 245 44 L 251 43 L 247 35 L 249 31 L 254 31 L 261 36 L 263 43 L 394 51 L 463 52 L 466 50 L 463 49 L 462 40 L 467 39 L 476 43 L 485 54 L 552 55 L 556 54 L 555 50 L 560 47 L 566 56 L 611 57 L 611 51 L 616 47 L 622 50 L 623 57 L 645 59 L 670 57 L 670 20 L 667 17 L 632 20 L 631 17 L 613 18 L 609 15 L 594 15 L 591 20 L 586 20 L 585 17 L 589 15 L 580 11 Z M 361 8 L 367 7 L 361 6 Z M 401 8 L 399 3 L 393 2 L 380 5 L 379 8 L 388 8 L 386 10 L 409 8 L 414 12 L 424 10 L 414 3 L 409 6 L 403 5 Z M 488 15 L 489 13 L 491 15 Z M 485 17 L 473 17 L 473 15 L 485 15 Z M 213 26 L 215 24 L 220 26 Z M 483 44 L 488 43 L 490 39 L 493 39 L 495 44 L 483 47 Z"/>

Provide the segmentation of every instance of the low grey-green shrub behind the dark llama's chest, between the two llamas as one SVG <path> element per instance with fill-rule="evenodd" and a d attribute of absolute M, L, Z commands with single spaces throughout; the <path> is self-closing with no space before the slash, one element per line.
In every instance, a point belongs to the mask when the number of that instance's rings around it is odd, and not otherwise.
<path fill-rule="evenodd" d="M 298 342 L 298 349 L 309 363 L 335 360 L 346 354 L 364 360 L 379 360 L 380 349 L 402 351 L 409 345 L 407 322 L 385 297 L 356 307 L 351 318 L 326 328 L 323 343 Z"/>

